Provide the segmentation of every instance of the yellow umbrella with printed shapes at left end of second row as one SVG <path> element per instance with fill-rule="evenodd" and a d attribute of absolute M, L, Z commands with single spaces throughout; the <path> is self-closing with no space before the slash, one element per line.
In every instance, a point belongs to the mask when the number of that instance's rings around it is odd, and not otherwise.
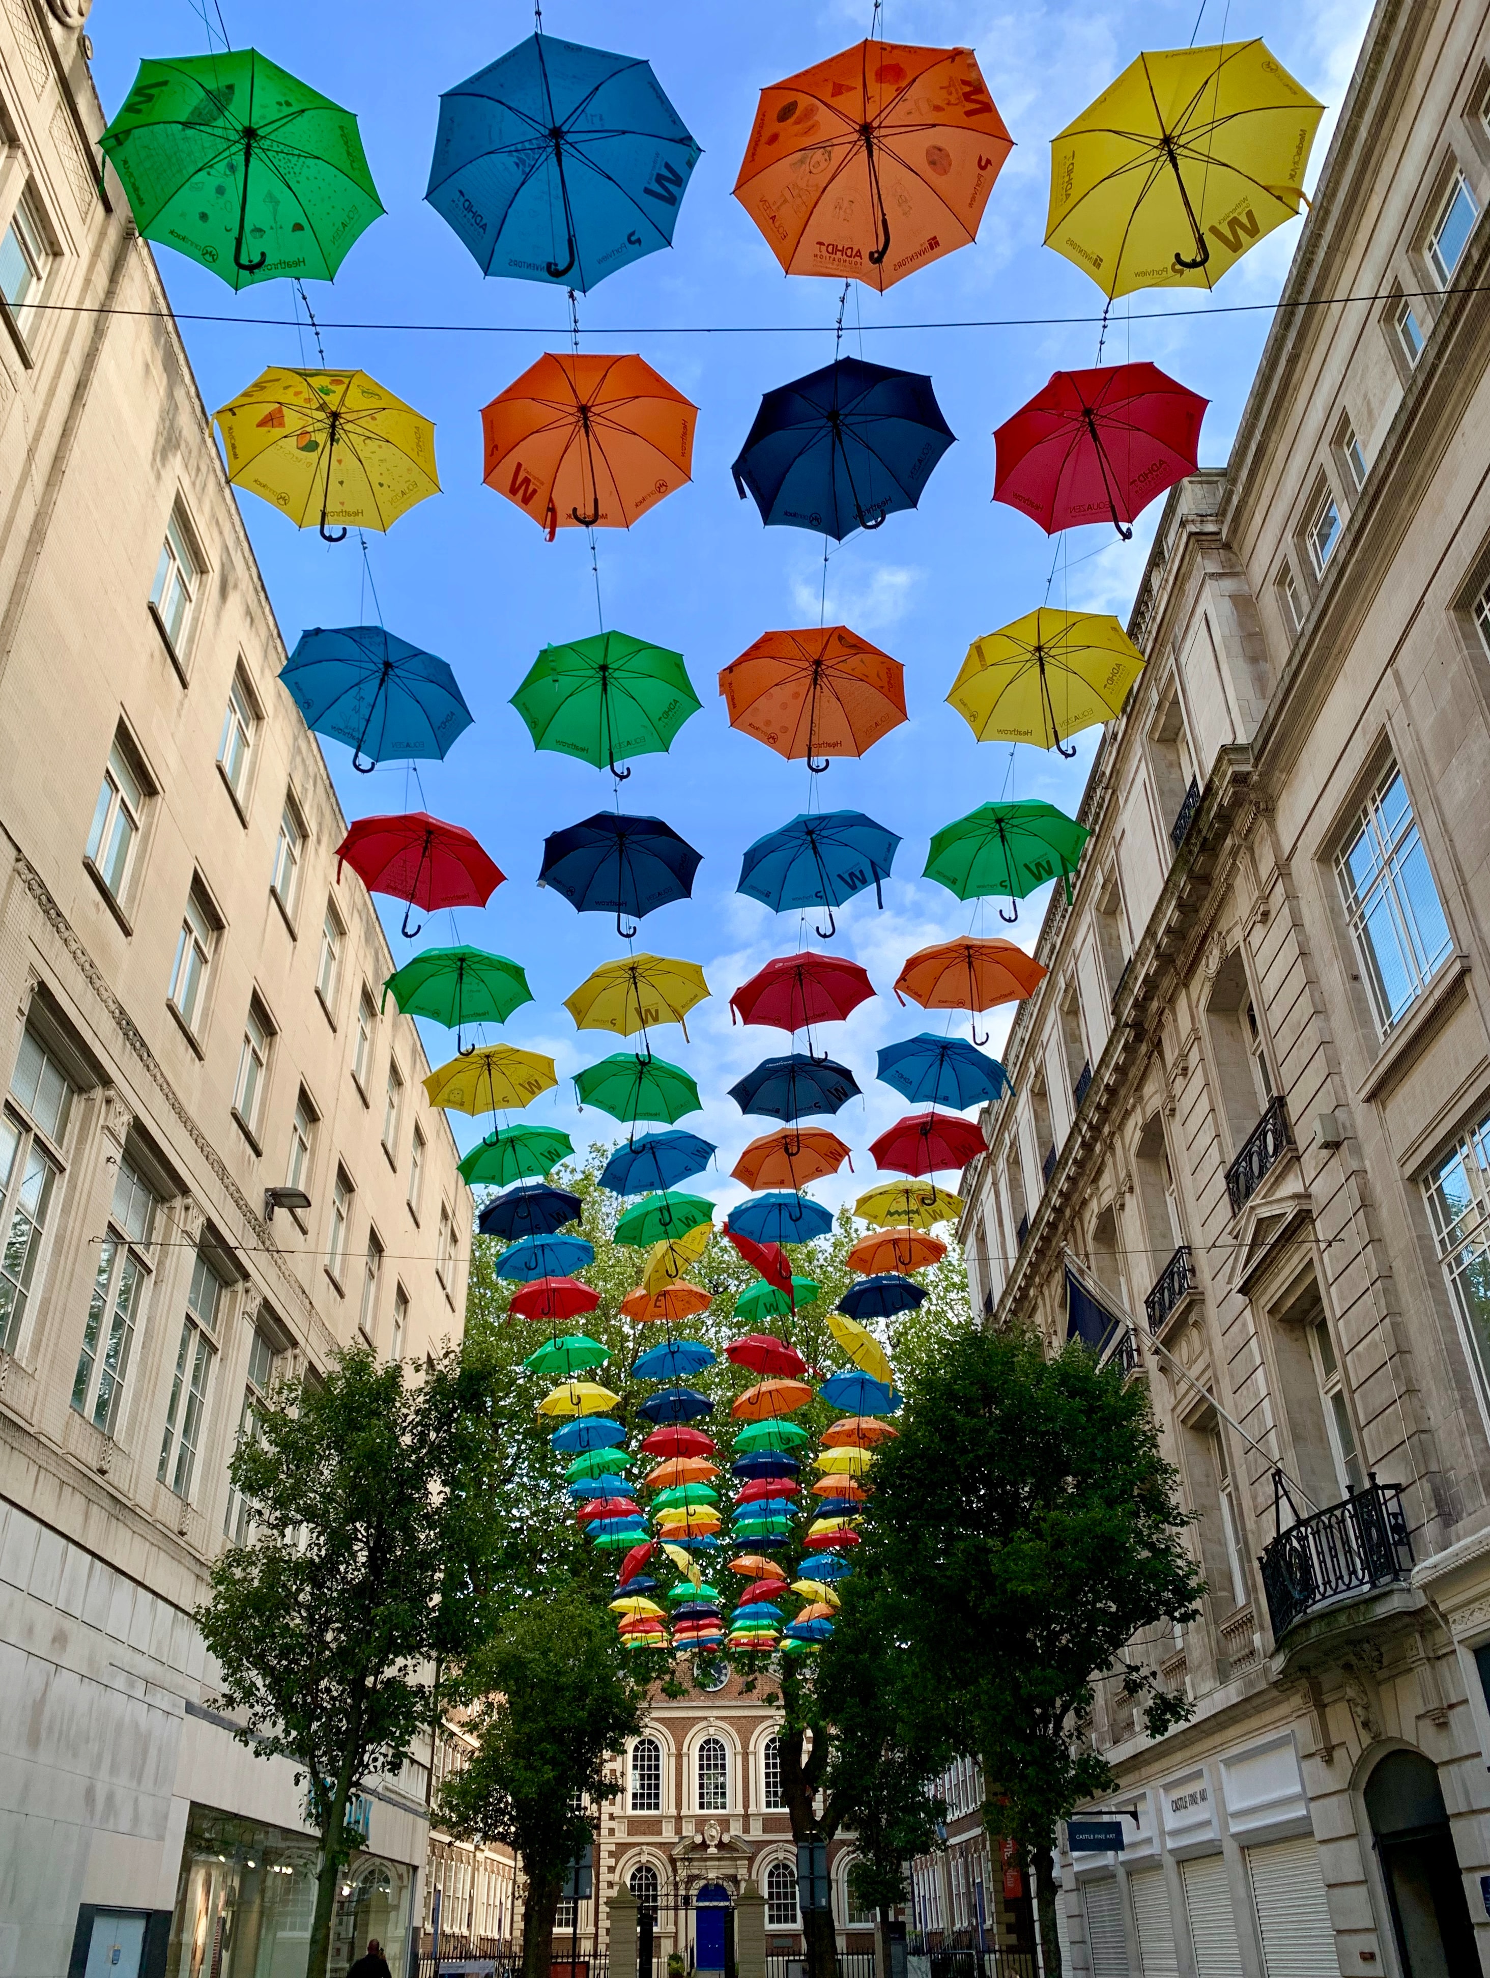
<path fill-rule="evenodd" d="M 321 524 L 326 542 L 348 528 L 392 528 L 439 493 L 431 421 L 366 372 L 271 364 L 214 417 L 233 487 L 297 528 Z M 326 522 L 340 522 L 340 534 Z"/>

